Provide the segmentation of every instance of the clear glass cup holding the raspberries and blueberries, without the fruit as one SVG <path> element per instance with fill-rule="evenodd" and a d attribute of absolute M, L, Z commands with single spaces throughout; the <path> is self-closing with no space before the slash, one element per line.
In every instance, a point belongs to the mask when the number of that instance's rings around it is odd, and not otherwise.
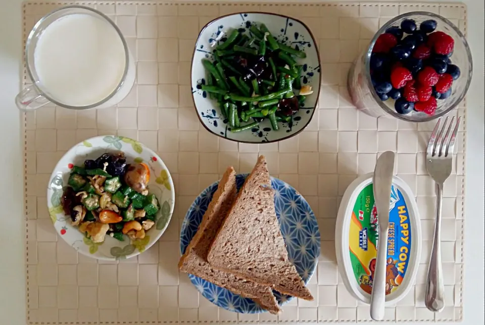
<path fill-rule="evenodd" d="M 413 19 L 418 26 L 422 21 L 434 19 L 438 23 L 436 31 L 443 31 L 455 40 L 453 55 L 450 59 L 453 64 L 460 68 L 461 75 L 453 82 L 450 97 L 445 100 L 438 100 L 438 108 L 434 115 L 426 115 L 423 112 L 416 111 L 412 111 L 406 115 L 399 114 L 394 109 L 394 100 L 389 99 L 385 102 L 380 100 L 372 85 L 370 55 L 372 54 L 374 43 L 377 37 L 384 33 L 387 28 L 400 26 L 404 19 Z M 470 86 L 472 71 L 472 58 L 468 42 L 462 32 L 451 21 L 430 12 L 410 12 L 391 19 L 375 33 L 370 41 L 369 47 L 352 63 L 347 78 L 347 85 L 354 105 L 370 116 L 396 117 L 410 122 L 425 122 L 447 114 L 460 104 Z"/>

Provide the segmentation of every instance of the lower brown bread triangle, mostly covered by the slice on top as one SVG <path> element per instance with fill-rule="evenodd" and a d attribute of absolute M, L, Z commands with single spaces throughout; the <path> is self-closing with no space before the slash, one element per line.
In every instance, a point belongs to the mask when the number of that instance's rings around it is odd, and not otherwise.
<path fill-rule="evenodd" d="M 236 194 L 235 172 L 232 167 L 229 167 L 219 182 L 196 235 L 180 258 L 178 267 L 183 272 L 197 275 L 235 294 L 254 299 L 262 308 L 277 314 L 280 308 L 269 286 L 263 286 L 243 277 L 215 269 L 207 262 L 210 244 L 229 213 Z"/>

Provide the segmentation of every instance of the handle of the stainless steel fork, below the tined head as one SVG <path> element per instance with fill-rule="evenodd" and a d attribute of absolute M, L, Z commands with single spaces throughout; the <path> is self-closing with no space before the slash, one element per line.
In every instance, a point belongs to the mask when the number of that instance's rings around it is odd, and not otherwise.
<path fill-rule="evenodd" d="M 445 285 L 441 263 L 441 212 L 443 183 L 436 183 L 436 218 L 434 222 L 433 246 L 426 277 L 424 303 L 431 311 L 442 311 L 445 307 Z"/>

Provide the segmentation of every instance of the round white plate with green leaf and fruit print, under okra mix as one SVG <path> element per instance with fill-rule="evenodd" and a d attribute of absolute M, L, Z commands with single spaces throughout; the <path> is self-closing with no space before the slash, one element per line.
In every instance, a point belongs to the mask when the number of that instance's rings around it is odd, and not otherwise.
<path fill-rule="evenodd" d="M 106 152 L 124 152 L 128 163 L 144 162 L 151 169 L 149 191 L 156 195 L 161 209 L 156 215 L 156 224 L 147 231 L 144 239 L 130 241 L 124 235 L 124 241 L 106 236 L 103 243 L 93 243 L 71 225 L 70 216 L 66 216 L 61 206 L 63 187 L 67 185 L 70 169 L 82 165 L 86 159 L 96 159 Z M 92 137 L 71 148 L 57 163 L 47 185 L 47 207 L 56 232 L 69 246 L 86 256 L 117 260 L 136 256 L 152 246 L 170 222 L 173 213 L 175 192 L 172 177 L 162 159 L 151 149 L 136 140 L 123 136 L 106 135 Z"/>

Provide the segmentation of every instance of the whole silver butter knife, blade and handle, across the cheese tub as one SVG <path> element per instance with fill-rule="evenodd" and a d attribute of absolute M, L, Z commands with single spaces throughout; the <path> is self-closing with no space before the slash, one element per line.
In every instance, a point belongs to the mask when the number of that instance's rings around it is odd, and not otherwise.
<path fill-rule="evenodd" d="M 385 304 L 385 266 L 387 257 L 387 231 L 389 231 L 389 206 L 391 185 L 393 183 L 394 152 L 383 152 L 375 164 L 372 177 L 374 201 L 377 209 L 379 241 L 372 294 L 370 296 L 370 317 L 374 320 L 384 319 Z"/>

